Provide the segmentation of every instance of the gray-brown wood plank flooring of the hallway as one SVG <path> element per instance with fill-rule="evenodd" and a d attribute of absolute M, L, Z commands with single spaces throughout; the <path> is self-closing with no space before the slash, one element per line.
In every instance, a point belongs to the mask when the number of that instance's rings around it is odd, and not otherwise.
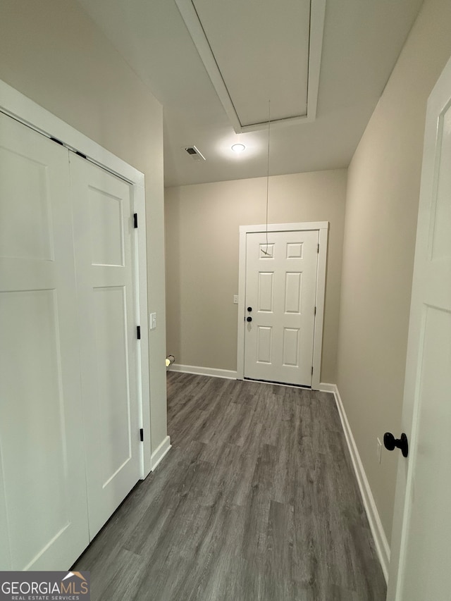
<path fill-rule="evenodd" d="M 173 449 L 74 569 L 93 601 L 383 601 L 333 395 L 168 373 Z"/>

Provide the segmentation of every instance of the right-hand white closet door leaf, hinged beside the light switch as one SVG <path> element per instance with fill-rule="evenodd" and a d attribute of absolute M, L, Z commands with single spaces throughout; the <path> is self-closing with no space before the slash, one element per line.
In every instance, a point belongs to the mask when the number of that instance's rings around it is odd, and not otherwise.
<path fill-rule="evenodd" d="M 89 534 L 140 478 L 132 186 L 70 155 Z"/>

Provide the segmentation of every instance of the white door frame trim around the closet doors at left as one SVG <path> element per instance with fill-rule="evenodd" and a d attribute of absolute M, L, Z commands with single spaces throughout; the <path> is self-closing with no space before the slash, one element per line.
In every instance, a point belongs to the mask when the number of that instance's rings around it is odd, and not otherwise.
<path fill-rule="evenodd" d="M 141 326 L 141 340 L 138 345 L 138 412 L 140 428 L 144 430 L 141 447 L 141 477 L 151 471 L 151 428 L 150 428 L 150 387 L 149 387 L 149 323 L 147 317 L 147 250 L 145 227 L 144 173 L 119 159 L 110 151 L 90 140 L 82 133 L 49 113 L 16 89 L 0 80 L 0 111 L 42 133 L 56 138 L 64 147 L 78 151 L 89 161 L 106 171 L 118 175 L 133 186 L 133 205 L 138 213 L 140 227 L 135 230 L 135 273 L 136 273 L 136 315 L 137 325 Z M 136 433 L 139 435 L 139 433 Z"/>

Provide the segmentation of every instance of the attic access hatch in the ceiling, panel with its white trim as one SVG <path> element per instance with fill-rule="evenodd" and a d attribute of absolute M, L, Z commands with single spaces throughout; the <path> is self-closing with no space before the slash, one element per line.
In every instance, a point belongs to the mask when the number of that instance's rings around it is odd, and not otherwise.
<path fill-rule="evenodd" d="M 316 117 L 326 0 L 175 0 L 235 132 Z"/>

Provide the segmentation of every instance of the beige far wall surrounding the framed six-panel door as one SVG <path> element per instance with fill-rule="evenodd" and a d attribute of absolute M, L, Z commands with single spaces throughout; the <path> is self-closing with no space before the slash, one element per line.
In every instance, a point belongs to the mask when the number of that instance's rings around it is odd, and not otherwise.
<path fill-rule="evenodd" d="M 277 175 L 269 223 L 329 221 L 321 381 L 336 380 L 346 170 Z M 165 192 L 167 348 L 178 364 L 236 370 L 240 225 L 265 223 L 266 178 Z"/>

